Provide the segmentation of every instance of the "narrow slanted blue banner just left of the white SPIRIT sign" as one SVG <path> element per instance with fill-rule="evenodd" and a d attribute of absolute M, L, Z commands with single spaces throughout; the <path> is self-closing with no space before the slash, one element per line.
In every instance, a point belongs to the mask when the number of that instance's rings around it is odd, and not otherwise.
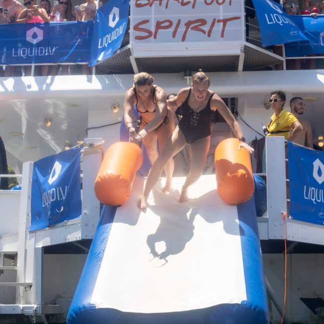
<path fill-rule="evenodd" d="M 129 0 L 109 0 L 97 10 L 89 65 L 111 57 L 122 45 L 129 16 Z"/>

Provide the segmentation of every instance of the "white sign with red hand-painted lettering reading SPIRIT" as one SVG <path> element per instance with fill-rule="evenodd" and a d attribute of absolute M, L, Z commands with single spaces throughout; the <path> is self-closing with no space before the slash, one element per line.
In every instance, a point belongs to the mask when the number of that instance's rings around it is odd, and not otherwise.
<path fill-rule="evenodd" d="M 242 41 L 242 0 L 132 0 L 131 43 Z"/>

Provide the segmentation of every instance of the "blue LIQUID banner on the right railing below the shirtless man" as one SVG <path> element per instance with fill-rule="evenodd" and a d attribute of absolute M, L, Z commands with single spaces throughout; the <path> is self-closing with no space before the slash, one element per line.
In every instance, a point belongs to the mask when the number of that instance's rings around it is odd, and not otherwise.
<path fill-rule="evenodd" d="M 288 142 L 288 167 L 291 217 L 324 225 L 324 152 Z"/>

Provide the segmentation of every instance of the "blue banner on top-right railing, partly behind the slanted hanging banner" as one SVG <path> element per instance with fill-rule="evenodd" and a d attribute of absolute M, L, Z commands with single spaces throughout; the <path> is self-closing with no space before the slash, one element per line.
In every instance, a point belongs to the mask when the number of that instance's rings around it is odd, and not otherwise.
<path fill-rule="evenodd" d="M 313 18 L 311 15 L 293 17 L 308 41 L 285 44 L 287 57 L 299 57 L 312 54 L 324 54 L 324 15 Z"/>

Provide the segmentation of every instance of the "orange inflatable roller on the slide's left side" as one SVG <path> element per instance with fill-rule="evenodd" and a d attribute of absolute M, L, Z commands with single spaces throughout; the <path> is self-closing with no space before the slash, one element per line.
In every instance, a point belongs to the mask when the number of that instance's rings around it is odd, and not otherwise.
<path fill-rule="evenodd" d="M 95 181 L 95 193 L 105 205 L 118 206 L 130 196 L 143 154 L 134 143 L 119 142 L 109 147 Z"/>

